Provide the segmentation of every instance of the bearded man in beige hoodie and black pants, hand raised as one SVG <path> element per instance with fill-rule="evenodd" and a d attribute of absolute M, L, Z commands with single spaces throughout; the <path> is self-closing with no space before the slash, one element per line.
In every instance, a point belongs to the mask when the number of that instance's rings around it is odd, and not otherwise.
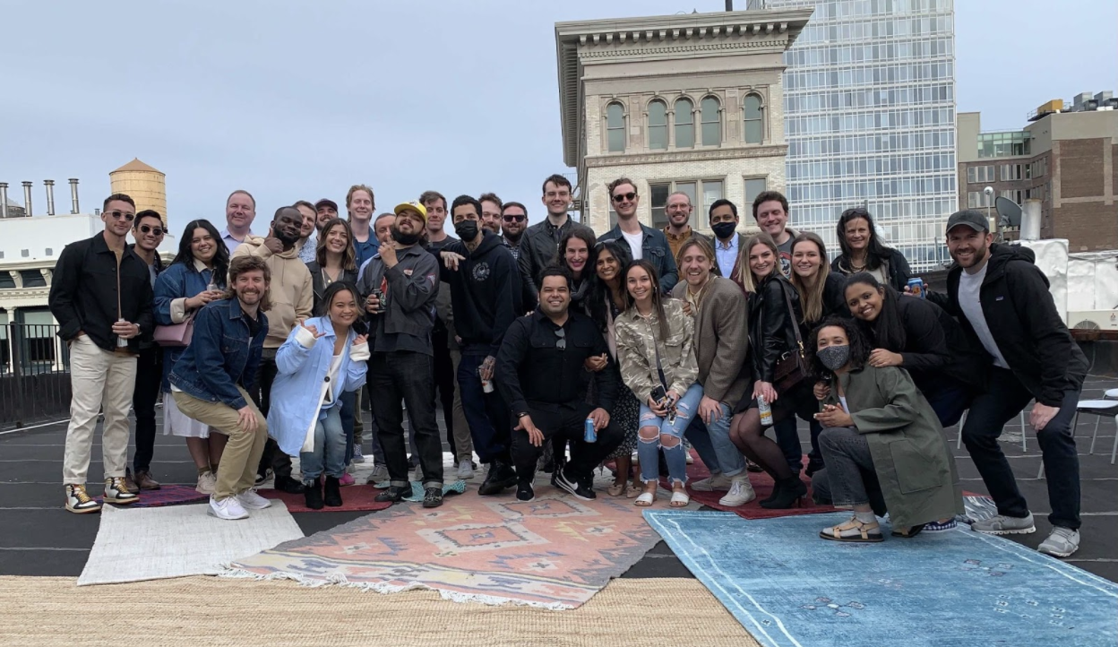
<path fill-rule="evenodd" d="M 264 416 L 268 415 L 272 397 L 272 382 L 276 377 L 276 351 L 287 341 L 287 335 L 299 321 L 311 317 L 314 304 L 314 287 L 311 273 L 299 259 L 300 231 L 303 226 L 303 215 L 294 207 L 281 207 L 272 220 L 271 236 L 260 238 L 249 236 L 245 242 L 233 253 L 233 258 L 254 256 L 264 259 L 272 275 L 268 297 L 272 307 L 268 311 L 271 325 L 264 340 L 264 353 L 259 362 L 259 371 L 254 382 L 259 390 L 250 391 Z M 292 494 L 303 492 L 303 483 L 291 477 L 291 457 L 280 451 L 275 440 L 268 439 L 264 458 L 259 466 L 259 478 L 267 478 L 267 469 L 275 472 L 275 487 Z"/>

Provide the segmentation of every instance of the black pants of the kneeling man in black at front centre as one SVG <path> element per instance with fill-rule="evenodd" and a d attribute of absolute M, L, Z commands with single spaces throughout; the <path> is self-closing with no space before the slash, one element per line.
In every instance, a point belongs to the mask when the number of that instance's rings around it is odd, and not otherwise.
<path fill-rule="evenodd" d="M 543 445 L 555 437 L 561 437 L 570 443 L 570 460 L 567 463 L 567 474 L 577 479 L 588 478 L 594 467 L 606 459 L 606 456 L 625 439 L 624 430 L 617 428 L 610 419 L 605 429 L 598 430 L 598 439 L 587 443 L 586 418 L 594 407 L 586 402 L 575 401 L 569 405 L 546 405 L 528 402 L 528 412 L 532 424 L 543 432 L 543 444 L 532 445 L 528 431 L 513 429 L 512 462 L 517 466 L 517 476 L 521 482 L 531 483 L 536 475 L 536 463 L 543 453 Z M 558 468 L 558 467 L 557 467 Z"/>

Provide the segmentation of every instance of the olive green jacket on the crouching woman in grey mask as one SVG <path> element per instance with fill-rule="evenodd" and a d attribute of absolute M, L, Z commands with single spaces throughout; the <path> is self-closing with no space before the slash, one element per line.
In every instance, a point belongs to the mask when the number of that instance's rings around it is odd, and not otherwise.
<path fill-rule="evenodd" d="M 894 527 L 963 514 L 955 458 L 931 405 L 897 367 L 865 368 L 839 377 L 851 418 L 865 436 Z M 826 403 L 841 406 L 832 386 Z"/>

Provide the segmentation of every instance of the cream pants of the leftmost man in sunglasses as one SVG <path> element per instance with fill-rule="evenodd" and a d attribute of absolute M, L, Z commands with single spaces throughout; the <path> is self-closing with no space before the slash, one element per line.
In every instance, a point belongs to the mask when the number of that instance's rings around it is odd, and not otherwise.
<path fill-rule="evenodd" d="M 97 411 L 104 477 L 124 476 L 129 462 L 129 407 L 136 381 L 136 358 L 103 350 L 88 335 L 70 342 L 70 422 L 66 429 L 63 483 L 85 485 Z"/>

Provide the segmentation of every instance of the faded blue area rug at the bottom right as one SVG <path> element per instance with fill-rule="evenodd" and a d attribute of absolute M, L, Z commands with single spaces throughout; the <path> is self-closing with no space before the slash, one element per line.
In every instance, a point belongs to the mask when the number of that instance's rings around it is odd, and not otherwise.
<path fill-rule="evenodd" d="M 818 539 L 849 513 L 644 516 L 768 647 L 1118 645 L 1118 584 L 969 527 L 852 544 Z"/>

